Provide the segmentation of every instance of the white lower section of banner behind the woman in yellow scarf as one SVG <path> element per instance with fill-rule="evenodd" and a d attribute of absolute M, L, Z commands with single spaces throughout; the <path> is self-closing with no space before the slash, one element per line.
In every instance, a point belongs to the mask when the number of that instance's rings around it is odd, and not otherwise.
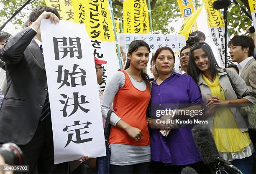
<path fill-rule="evenodd" d="M 219 66 L 221 68 L 225 67 L 225 27 L 211 27 L 208 28 L 209 30 L 209 38 L 216 46 L 216 51 L 218 53 L 218 59 L 217 61 Z M 227 35 L 227 44 L 228 44 L 228 35 Z M 214 50 L 213 50 L 214 51 Z M 232 63 L 231 56 L 229 54 L 229 48 L 227 47 L 227 66 Z"/>

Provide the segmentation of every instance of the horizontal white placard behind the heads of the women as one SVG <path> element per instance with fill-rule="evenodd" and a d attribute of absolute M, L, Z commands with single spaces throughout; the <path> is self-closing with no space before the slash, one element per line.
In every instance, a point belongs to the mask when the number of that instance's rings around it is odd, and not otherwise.
<path fill-rule="evenodd" d="M 155 53 L 160 47 L 168 46 L 173 52 L 179 52 L 182 47 L 186 46 L 186 38 L 183 35 L 164 35 L 164 34 L 131 34 L 119 33 L 119 46 L 123 52 L 127 53 L 130 43 L 133 40 L 143 40 L 148 43 L 151 53 Z"/>

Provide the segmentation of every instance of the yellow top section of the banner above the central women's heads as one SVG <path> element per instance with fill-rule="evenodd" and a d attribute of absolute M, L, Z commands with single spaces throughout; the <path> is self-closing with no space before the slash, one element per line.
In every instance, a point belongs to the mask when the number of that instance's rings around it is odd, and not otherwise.
<path fill-rule="evenodd" d="M 146 0 L 123 1 L 123 33 L 149 33 Z"/>

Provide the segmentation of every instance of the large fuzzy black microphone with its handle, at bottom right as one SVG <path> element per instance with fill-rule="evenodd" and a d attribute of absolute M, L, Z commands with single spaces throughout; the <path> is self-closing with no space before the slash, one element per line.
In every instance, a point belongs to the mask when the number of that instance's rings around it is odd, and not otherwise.
<path fill-rule="evenodd" d="M 192 136 L 195 140 L 195 144 L 197 145 L 197 149 L 201 155 L 203 163 L 210 166 L 212 173 L 219 170 L 218 164 L 220 163 L 224 165 L 226 169 L 240 174 L 240 169 L 234 166 L 231 162 L 220 157 L 210 129 L 203 128 L 202 125 L 198 124 L 194 126 L 194 129 L 192 129 Z"/>

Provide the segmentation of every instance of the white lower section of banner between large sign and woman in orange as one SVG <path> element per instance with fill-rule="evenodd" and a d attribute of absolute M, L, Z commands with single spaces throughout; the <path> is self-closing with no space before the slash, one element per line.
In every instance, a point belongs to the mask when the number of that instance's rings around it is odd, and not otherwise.
<path fill-rule="evenodd" d="M 91 45 L 94 57 L 100 60 L 102 59 L 104 61 L 107 61 L 107 64 L 102 65 L 104 66 L 102 82 L 99 84 L 100 90 L 104 92 L 108 80 L 111 78 L 113 73 L 118 71 L 118 69 L 120 68 L 118 56 L 115 49 L 115 42 L 91 40 Z"/>

